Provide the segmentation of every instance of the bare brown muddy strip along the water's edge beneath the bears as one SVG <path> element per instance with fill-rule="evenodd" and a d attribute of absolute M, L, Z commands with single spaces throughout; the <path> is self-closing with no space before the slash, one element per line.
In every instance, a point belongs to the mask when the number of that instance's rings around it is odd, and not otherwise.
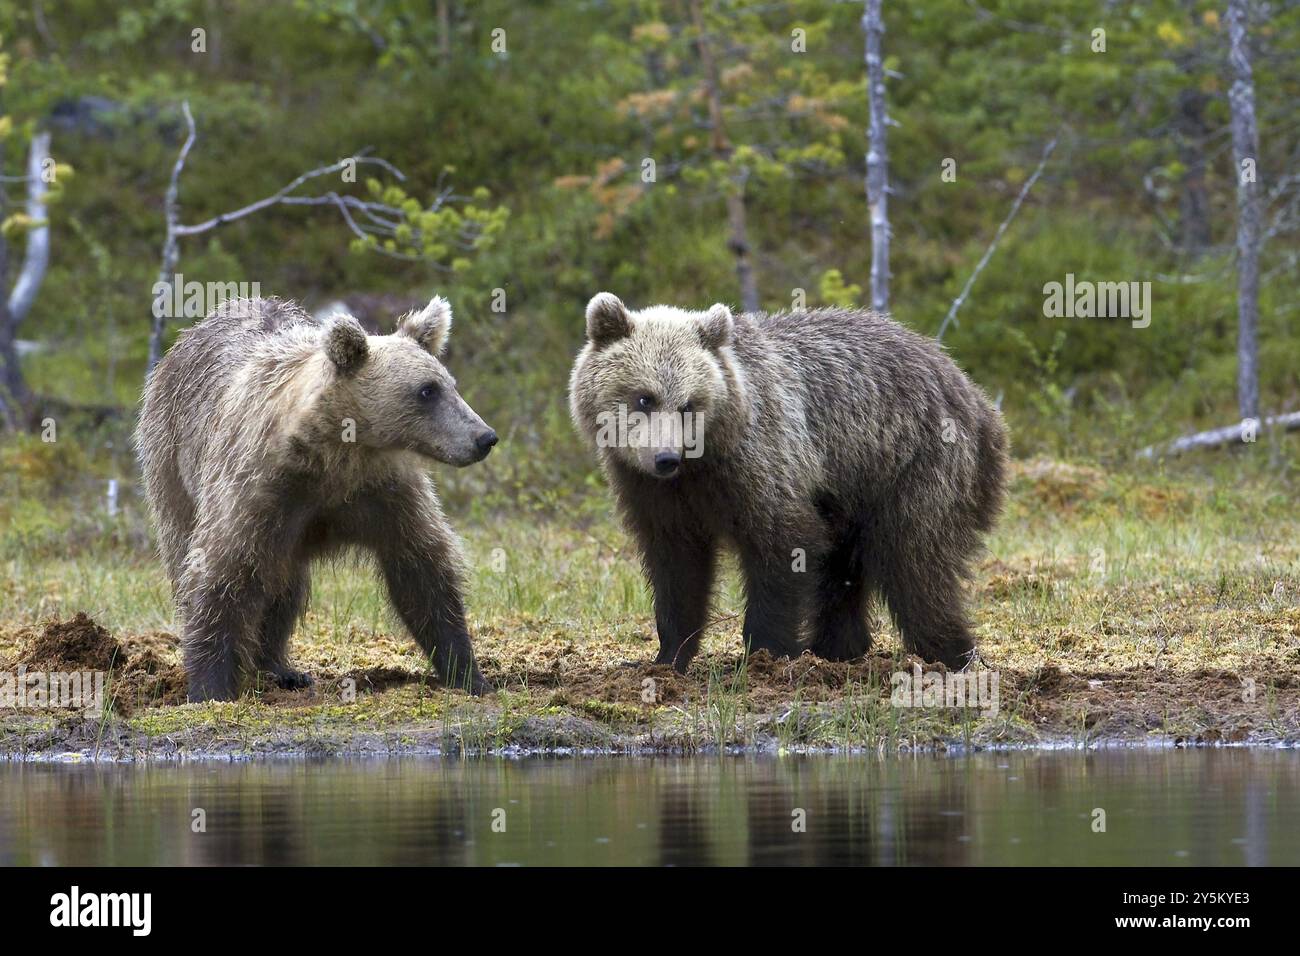
<path fill-rule="evenodd" d="M 772 659 L 712 640 L 686 675 L 645 663 L 654 643 L 568 639 L 533 626 L 526 640 L 481 628 L 485 675 L 474 700 L 438 685 L 406 653 L 396 663 L 335 669 L 308 661 L 304 691 L 256 689 L 238 702 L 185 702 L 177 640 L 109 633 L 84 614 L 10 630 L 0 672 L 101 670 L 101 714 L 0 709 L 9 758 L 147 760 L 270 754 L 590 750 L 607 753 L 906 750 L 954 747 L 1270 744 L 1300 741 L 1300 663 L 1186 667 L 998 666 L 998 706 L 896 706 L 892 676 L 920 662 L 876 649 L 852 663 Z M 927 667 L 927 672 L 933 669 Z M 985 701 L 987 702 L 987 701 Z"/>

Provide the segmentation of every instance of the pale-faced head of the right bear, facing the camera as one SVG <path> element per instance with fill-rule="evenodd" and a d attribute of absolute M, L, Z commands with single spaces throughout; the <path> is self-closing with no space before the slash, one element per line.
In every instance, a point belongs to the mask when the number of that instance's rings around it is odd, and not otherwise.
<path fill-rule="evenodd" d="M 569 380 L 575 425 L 602 455 L 666 480 L 725 454 L 746 407 L 734 330 L 723 304 L 630 311 L 599 293 Z"/>

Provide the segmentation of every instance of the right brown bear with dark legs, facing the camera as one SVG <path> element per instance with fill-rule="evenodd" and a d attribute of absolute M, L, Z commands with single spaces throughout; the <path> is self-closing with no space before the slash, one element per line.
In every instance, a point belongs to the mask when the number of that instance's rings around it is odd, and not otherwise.
<path fill-rule="evenodd" d="M 933 341 L 824 308 L 736 315 L 601 293 L 569 405 L 654 591 L 656 663 L 685 670 L 718 549 L 740 558 L 749 652 L 871 646 L 880 594 L 909 652 L 961 667 L 962 584 L 1001 509 L 1001 415 Z"/>

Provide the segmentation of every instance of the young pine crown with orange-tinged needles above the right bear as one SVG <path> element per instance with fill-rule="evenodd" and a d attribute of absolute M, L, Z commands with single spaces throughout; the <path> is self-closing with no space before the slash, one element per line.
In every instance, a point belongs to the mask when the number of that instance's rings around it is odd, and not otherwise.
<path fill-rule="evenodd" d="M 809 52 L 829 46 L 841 12 L 800 8 L 809 16 L 792 20 L 759 3 L 705 3 L 697 23 L 693 4 L 647 3 L 641 17 L 611 23 L 610 39 L 634 51 L 616 112 L 636 152 L 602 157 L 593 176 L 577 177 L 602 207 L 602 235 L 655 191 L 679 206 L 708 203 L 842 170 L 858 69 L 852 57 Z"/>

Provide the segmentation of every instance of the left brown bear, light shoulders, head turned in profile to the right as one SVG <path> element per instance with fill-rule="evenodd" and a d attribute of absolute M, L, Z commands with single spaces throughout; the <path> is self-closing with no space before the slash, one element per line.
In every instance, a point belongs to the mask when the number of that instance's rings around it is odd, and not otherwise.
<path fill-rule="evenodd" d="M 190 700 L 230 700 L 268 671 L 303 687 L 287 644 L 308 563 L 350 546 L 442 679 L 484 693 L 462 604 L 460 544 L 428 459 L 497 444 L 438 362 L 434 298 L 391 336 L 328 326 L 280 299 L 237 299 L 185 332 L 144 388 L 136 446 L 182 626 Z"/>

